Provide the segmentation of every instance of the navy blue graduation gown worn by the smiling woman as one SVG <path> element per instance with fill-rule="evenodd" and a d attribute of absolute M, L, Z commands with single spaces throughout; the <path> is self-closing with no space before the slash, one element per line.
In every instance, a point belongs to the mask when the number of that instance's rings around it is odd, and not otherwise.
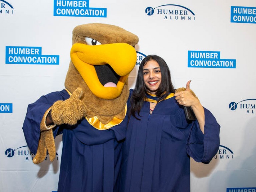
<path fill-rule="evenodd" d="M 189 192 L 190 157 L 209 163 L 219 148 L 220 126 L 205 111 L 204 134 L 187 122 L 175 97 L 158 103 L 149 115 L 144 102 L 140 120 L 131 116 L 123 145 L 118 192 Z"/>

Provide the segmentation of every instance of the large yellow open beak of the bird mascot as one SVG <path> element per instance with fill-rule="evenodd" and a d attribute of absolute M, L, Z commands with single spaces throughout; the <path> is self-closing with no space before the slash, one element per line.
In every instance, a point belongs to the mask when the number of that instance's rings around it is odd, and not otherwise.
<path fill-rule="evenodd" d="M 120 96 L 124 84 L 134 68 L 137 54 L 127 43 L 103 45 L 73 44 L 70 52 L 71 61 L 81 74 L 94 95 L 102 99 L 115 99 Z M 120 76 L 116 87 L 104 87 L 100 83 L 95 65 L 108 64 Z"/>

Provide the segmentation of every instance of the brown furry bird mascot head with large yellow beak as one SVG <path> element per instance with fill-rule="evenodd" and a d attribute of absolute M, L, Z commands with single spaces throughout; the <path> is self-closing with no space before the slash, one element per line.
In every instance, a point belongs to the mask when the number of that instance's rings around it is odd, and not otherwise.
<path fill-rule="evenodd" d="M 84 89 L 88 115 L 107 122 L 124 110 L 139 39 L 118 26 L 90 23 L 76 26 L 72 41 L 65 87 L 71 93 L 77 87 Z"/>

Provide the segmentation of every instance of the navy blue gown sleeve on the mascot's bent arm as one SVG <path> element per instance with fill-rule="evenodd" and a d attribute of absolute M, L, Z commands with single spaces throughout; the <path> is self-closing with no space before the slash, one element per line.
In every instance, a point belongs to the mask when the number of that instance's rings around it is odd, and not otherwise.
<path fill-rule="evenodd" d="M 45 112 L 55 101 L 65 100 L 68 97 L 68 93 L 62 90 L 41 96 L 37 101 L 28 105 L 22 129 L 28 147 L 32 153 L 36 154 L 37 152 L 40 137 L 40 123 Z M 58 132 L 58 126 L 53 130 L 53 134 L 54 137 L 60 134 Z"/>

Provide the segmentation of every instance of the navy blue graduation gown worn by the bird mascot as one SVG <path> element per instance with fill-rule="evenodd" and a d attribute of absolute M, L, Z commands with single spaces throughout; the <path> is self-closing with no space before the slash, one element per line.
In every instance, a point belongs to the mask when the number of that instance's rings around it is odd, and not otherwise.
<path fill-rule="evenodd" d="M 26 142 L 37 152 L 40 122 L 45 111 L 57 100 L 70 96 L 66 90 L 53 92 L 29 104 L 23 124 Z M 62 134 L 62 155 L 58 192 L 113 192 L 121 163 L 121 146 L 125 138 L 127 117 L 108 130 L 98 130 L 85 118 L 75 126 L 60 125 L 54 137 Z"/>

